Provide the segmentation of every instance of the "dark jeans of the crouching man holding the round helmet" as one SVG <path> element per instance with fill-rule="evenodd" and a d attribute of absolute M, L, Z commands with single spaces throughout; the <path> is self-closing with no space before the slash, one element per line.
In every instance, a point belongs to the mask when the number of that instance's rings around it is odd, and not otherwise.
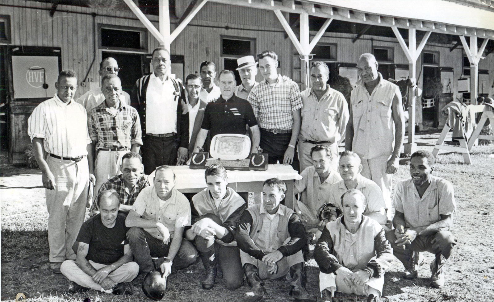
<path fill-rule="evenodd" d="M 127 231 L 127 239 L 134 255 L 134 261 L 139 264 L 141 272 L 159 269 L 159 267 L 155 267 L 152 258 L 166 257 L 170 250 L 171 240 L 168 244 L 164 244 L 162 240 L 151 236 L 150 233 L 140 227 L 131 227 Z M 171 269 L 175 271 L 185 268 L 193 264 L 197 257 L 199 254 L 196 248 L 187 239 L 182 238 L 182 244 L 175 259 L 173 259 Z"/>

